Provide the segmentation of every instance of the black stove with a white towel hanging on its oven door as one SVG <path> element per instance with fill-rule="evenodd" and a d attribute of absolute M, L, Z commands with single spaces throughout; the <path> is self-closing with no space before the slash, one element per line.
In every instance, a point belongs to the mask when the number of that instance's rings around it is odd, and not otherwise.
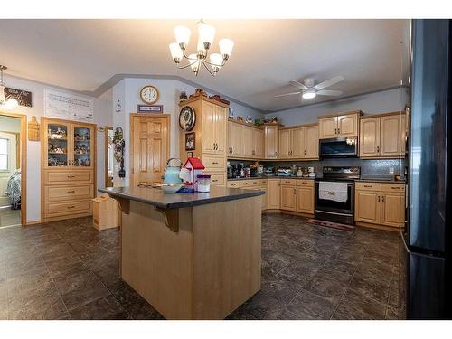
<path fill-rule="evenodd" d="M 315 179 L 315 219 L 354 224 L 354 179 L 360 177 L 360 167 L 324 167 L 323 178 Z M 346 202 L 321 199 L 321 182 L 344 182 L 347 184 Z"/>

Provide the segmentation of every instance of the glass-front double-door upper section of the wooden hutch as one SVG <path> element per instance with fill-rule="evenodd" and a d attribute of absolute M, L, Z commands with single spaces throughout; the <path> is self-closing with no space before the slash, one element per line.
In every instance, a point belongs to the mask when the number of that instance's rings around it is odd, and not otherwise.
<path fill-rule="evenodd" d="M 42 119 L 43 166 L 49 169 L 93 168 L 94 125 Z"/>

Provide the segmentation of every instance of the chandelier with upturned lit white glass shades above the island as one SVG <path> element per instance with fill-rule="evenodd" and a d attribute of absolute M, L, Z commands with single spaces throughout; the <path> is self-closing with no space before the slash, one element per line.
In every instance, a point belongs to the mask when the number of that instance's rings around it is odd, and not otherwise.
<path fill-rule="evenodd" d="M 209 56 L 210 61 L 207 61 L 207 54 L 212 47 L 213 38 L 215 36 L 215 27 L 210 24 L 205 24 L 202 20 L 198 25 L 198 43 L 196 46 L 196 53 L 186 55 L 185 51 L 190 41 L 191 31 L 184 26 L 176 26 L 174 28 L 175 41 L 170 43 L 169 48 L 171 57 L 173 58 L 178 69 L 182 70 L 187 67 L 191 67 L 195 76 L 198 76 L 200 68 L 203 66 L 212 77 L 214 77 L 221 67 L 226 64 L 226 61 L 231 57 L 232 48 L 234 42 L 231 39 L 221 39 L 218 44 L 220 45 L 220 53 L 212 53 Z M 180 62 L 183 58 L 188 60 L 188 64 L 180 66 Z M 212 71 L 209 66 L 212 67 Z"/>

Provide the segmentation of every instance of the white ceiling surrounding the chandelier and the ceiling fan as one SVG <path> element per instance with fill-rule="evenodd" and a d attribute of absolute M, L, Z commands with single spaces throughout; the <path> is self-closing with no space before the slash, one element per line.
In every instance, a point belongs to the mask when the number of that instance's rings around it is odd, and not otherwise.
<path fill-rule="evenodd" d="M 0 64 L 8 74 L 93 95 L 116 74 L 179 76 L 263 111 L 315 102 L 275 99 L 294 91 L 291 79 L 342 75 L 330 89 L 347 97 L 398 86 L 407 70 L 408 20 L 204 21 L 216 27 L 215 51 L 221 37 L 235 42 L 216 78 L 177 70 L 171 59 L 174 26 L 192 29 L 193 51 L 195 20 L 0 20 Z"/>

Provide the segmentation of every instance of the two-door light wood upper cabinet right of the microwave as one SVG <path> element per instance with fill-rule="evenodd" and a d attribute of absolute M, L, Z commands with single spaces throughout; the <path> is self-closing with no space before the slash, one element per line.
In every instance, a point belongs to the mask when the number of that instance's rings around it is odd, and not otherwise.
<path fill-rule="evenodd" d="M 400 112 L 364 117 L 360 122 L 360 157 L 405 156 L 405 115 Z"/>

